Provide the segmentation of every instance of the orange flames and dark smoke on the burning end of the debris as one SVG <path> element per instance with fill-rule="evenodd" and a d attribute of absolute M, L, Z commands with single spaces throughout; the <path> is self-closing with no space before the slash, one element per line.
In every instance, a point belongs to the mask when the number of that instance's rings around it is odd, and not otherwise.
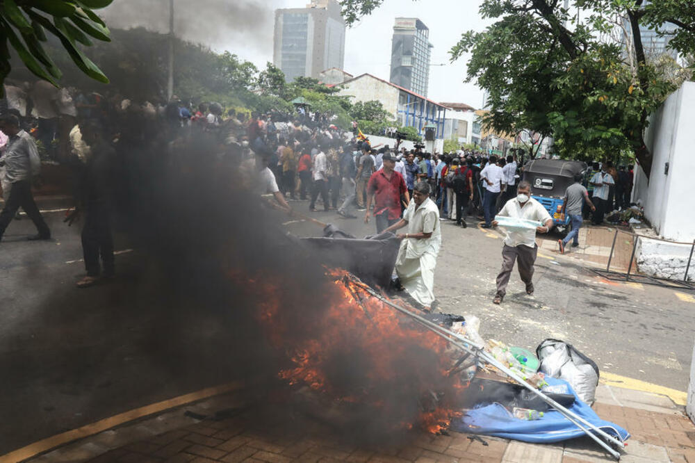
<path fill-rule="evenodd" d="M 340 415 L 345 424 L 389 432 L 448 428 L 461 416 L 458 404 L 469 379 L 452 368 L 459 352 L 398 316 L 354 275 L 329 270 L 327 276 L 322 291 L 329 307 L 304 320 L 301 332 L 288 330 L 296 326 L 287 320 L 294 314 L 280 298 L 263 307 L 270 343 L 288 357 L 279 377 L 303 400 L 321 403 L 316 413 Z"/>

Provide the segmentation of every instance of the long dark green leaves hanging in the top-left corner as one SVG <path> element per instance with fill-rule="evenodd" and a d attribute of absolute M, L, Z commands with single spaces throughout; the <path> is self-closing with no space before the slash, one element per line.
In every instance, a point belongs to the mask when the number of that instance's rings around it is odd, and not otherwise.
<path fill-rule="evenodd" d="M 93 11 L 113 0 L 0 0 L 0 92 L 10 74 L 10 48 L 33 74 L 58 85 L 62 72 L 44 49 L 47 35 L 54 35 L 79 69 L 100 82 L 108 78 L 90 60 L 80 45 L 92 39 L 108 42 L 110 33 Z"/>

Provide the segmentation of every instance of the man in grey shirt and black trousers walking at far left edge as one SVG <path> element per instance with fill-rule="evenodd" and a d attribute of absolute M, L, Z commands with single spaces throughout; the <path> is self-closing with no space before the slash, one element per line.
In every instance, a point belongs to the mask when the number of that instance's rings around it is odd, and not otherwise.
<path fill-rule="evenodd" d="M 51 239 L 51 230 L 44 222 L 34 202 L 34 197 L 31 195 L 31 181 L 41 170 L 41 160 L 36 143 L 31 135 L 19 128 L 19 120 L 15 115 L 1 116 L 0 130 L 9 137 L 5 154 L 0 158 L 0 165 L 5 167 L 6 180 L 12 185 L 5 208 L 0 213 L 0 240 L 20 207 L 24 209 L 38 230 L 38 234 L 28 239 L 31 241 L 49 240 Z"/>

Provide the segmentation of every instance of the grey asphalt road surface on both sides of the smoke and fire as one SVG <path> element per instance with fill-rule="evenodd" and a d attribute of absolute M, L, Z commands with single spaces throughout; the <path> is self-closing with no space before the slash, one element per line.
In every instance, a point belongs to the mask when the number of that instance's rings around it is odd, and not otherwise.
<path fill-rule="evenodd" d="M 309 214 L 306 202 L 293 203 Z M 42 204 L 60 209 L 64 204 Z M 297 236 L 320 236 L 310 221 L 269 211 Z M 83 275 L 79 230 L 47 213 L 52 241 L 29 243 L 29 220 L 13 222 L 0 243 L 0 455 L 128 409 L 222 384 L 244 375 L 233 369 L 229 332 L 218 320 L 191 311 L 175 325 L 147 311 L 138 250 L 117 237 L 114 282 L 79 290 Z M 356 236 L 375 225 L 335 213 L 311 213 Z M 602 371 L 685 390 L 695 304 L 672 290 L 612 286 L 574 261 L 539 257 L 536 294 L 525 295 L 516 274 L 501 306 L 493 305 L 502 240 L 477 229 L 441 222 L 443 248 L 436 269 L 441 311 L 474 314 L 484 338 L 530 349 L 546 338 L 563 339 Z M 128 289 L 129 291 L 126 291 Z M 147 296 L 152 297 L 152 296 Z M 177 316 L 180 316 L 178 314 Z M 185 326 L 185 330 L 181 330 Z M 249 359 L 252 363 L 252 357 Z"/>

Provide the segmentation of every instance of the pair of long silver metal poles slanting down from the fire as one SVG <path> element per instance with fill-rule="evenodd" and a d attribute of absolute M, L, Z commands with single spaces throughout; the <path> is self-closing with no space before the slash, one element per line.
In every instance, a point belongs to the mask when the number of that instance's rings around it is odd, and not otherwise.
<path fill-rule="evenodd" d="M 363 289 L 364 291 L 366 291 L 370 295 L 373 295 L 375 298 L 381 300 L 382 302 L 384 302 L 384 304 L 389 305 L 389 307 L 392 307 L 393 309 L 400 311 L 402 314 L 405 314 L 411 318 L 414 318 L 414 320 L 418 321 L 418 323 L 420 323 L 421 325 L 424 325 L 425 327 L 432 330 L 432 332 L 434 332 L 435 334 L 438 334 L 443 339 L 446 339 L 447 341 L 449 341 L 452 344 L 452 346 L 455 346 L 461 350 L 472 353 L 474 355 L 480 355 L 481 357 L 484 357 L 486 362 L 488 362 L 492 366 L 495 366 L 500 371 L 506 373 L 509 377 L 511 377 L 513 380 L 515 380 L 516 382 L 521 384 L 526 389 L 529 389 L 530 391 L 535 393 L 544 402 L 546 402 L 551 407 L 557 409 L 558 412 L 562 413 L 567 419 L 569 419 L 573 423 L 579 425 L 579 422 L 581 422 L 584 425 L 587 425 L 589 428 L 591 428 L 591 430 L 594 430 L 597 434 L 599 434 L 602 437 L 605 437 L 605 439 L 608 439 L 609 441 L 613 442 L 617 446 L 625 447 L 625 444 L 623 444 L 623 442 L 621 440 L 616 439 L 615 437 L 613 437 L 610 434 L 607 434 L 607 432 L 601 430 L 600 428 L 597 428 L 595 425 L 589 423 L 589 421 L 583 419 L 581 416 L 578 416 L 574 412 L 570 412 L 568 409 L 566 409 L 565 407 L 563 407 L 559 403 L 555 402 L 555 400 L 549 398 L 544 393 L 542 393 L 541 391 L 539 391 L 538 389 L 533 387 L 531 384 L 528 384 L 528 382 L 526 382 L 521 377 L 516 375 L 516 373 L 509 370 L 509 368 L 507 368 L 506 366 L 504 366 L 500 362 L 498 362 L 498 360 L 495 357 L 492 357 L 487 352 L 485 352 L 483 346 L 479 346 L 479 345 L 473 343 L 472 341 L 464 338 L 463 336 L 461 336 L 455 332 L 452 332 L 450 330 L 447 330 L 446 328 L 441 327 L 441 326 L 437 325 L 436 323 L 431 322 L 430 320 L 427 320 L 427 318 L 423 318 L 423 317 L 419 316 L 418 314 L 414 314 L 411 311 L 394 304 L 393 302 L 385 299 L 382 295 L 380 295 L 379 293 L 377 293 L 376 291 L 371 289 L 366 284 L 363 284 L 361 282 L 359 282 L 358 284 L 361 287 L 361 289 Z M 460 342 L 455 342 L 451 338 L 454 338 Z M 579 426 L 580 426 L 580 428 L 582 428 L 582 430 L 584 430 L 584 432 L 587 432 L 587 435 L 589 435 L 589 437 L 596 440 L 601 446 L 606 448 L 606 450 L 608 450 L 611 453 L 611 455 L 613 455 L 614 457 L 616 457 L 618 459 L 620 458 L 619 453 L 617 453 L 615 450 L 610 448 L 610 446 L 607 446 L 607 444 L 605 442 L 598 439 L 598 437 L 594 433 L 589 432 L 588 430 L 585 430 L 581 425 L 579 425 Z"/>

